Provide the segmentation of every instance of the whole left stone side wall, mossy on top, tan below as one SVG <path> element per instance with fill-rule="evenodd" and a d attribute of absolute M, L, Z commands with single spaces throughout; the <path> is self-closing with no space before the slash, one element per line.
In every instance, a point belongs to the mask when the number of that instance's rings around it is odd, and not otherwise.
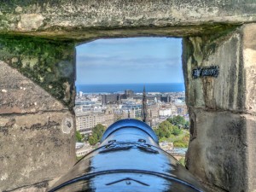
<path fill-rule="evenodd" d="M 73 166 L 73 59 L 73 44 L 0 38 L 0 191 L 37 191 Z"/>

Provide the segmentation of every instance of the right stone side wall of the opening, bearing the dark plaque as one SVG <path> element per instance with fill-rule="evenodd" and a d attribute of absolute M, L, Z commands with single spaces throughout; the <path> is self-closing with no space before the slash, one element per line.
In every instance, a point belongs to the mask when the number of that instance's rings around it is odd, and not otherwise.
<path fill-rule="evenodd" d="M 227 191 L 253 191 L 256 89 L 255 27 L 221 37 L 183 39 L 183 71 L 191 118 L 189 171 Z M 218 77 L 193 78 L 218 66 Z"/>

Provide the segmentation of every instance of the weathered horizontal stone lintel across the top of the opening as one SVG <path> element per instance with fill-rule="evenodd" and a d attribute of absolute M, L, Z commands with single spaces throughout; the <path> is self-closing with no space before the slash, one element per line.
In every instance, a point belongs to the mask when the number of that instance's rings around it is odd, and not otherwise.
<path fill-rule="evenodd" d="M 214 33 L 219 24 L 253 22 L 255 9 L 251 0 L 15 0 L 1 3 L 0 32 L 64 39 L 161 35 L 165 30 L 165 35 L 189 36 Z M 153 32 L 155 27 L 162 29 Z"/>

